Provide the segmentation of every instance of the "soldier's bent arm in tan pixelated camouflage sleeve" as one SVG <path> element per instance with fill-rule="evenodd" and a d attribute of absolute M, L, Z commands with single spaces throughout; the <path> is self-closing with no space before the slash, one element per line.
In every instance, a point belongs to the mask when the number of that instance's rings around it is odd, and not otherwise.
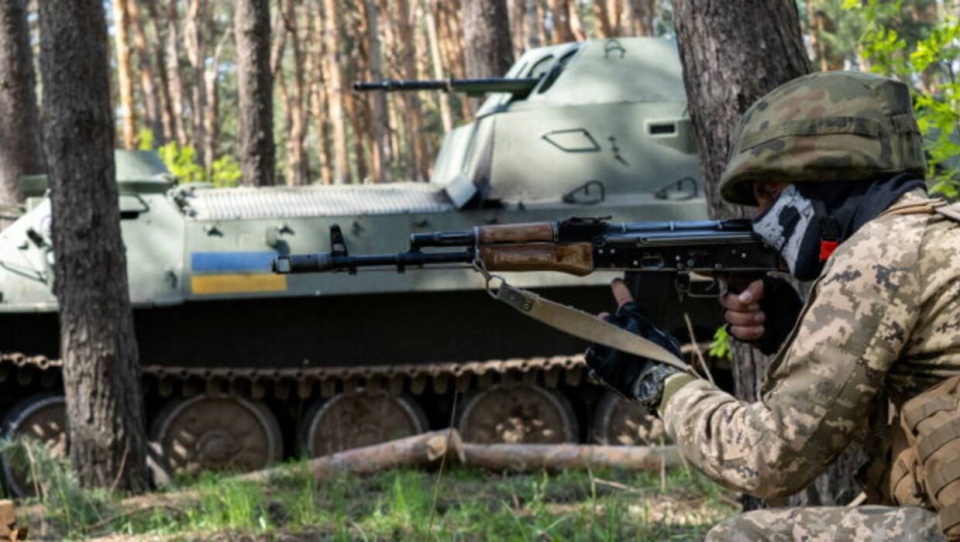
<path fill-rule="evenodd" d="M 871 223 L 844 243 L 759 401 L 671 377 L 660 408 L 684 455 L 716 481 L 763 498 L 802 489 L 833 462 L 869 416 L 914 325 L 921 230 Z M 904 235 L 918 238 L 890 242 Z"/>

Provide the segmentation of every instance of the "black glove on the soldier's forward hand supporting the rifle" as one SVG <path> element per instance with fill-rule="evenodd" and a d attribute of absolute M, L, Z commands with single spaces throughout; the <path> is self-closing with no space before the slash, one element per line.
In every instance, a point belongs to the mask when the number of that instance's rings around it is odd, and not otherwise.
<path fill-rule="evenodd" d="M 634 302 L 622 305 L 606 321 L 640 335 L 680 357 L 680 343 L 672 335 L 657 328 L 637 311 Z M 601 344 L 592 344 L 586 352 L 591 375 L 627 399 L 640 401 L 647 410 L 656 412 L 663 395 L 663 382 L 680 369 L 649 358 L 626 354 Z"/>

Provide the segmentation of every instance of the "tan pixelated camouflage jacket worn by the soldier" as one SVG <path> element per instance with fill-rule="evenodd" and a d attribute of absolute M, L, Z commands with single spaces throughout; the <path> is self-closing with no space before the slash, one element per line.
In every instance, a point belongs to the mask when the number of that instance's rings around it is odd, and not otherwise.
<path fill-rule="evenodd" d="M 907 194 L 892 210 L 918 201 Z M 960 373 L 958 230 L 939 214 L 889 214 L 843 243 L 758 401 L 671 377 L 661 415 L 683 455 L 727 487 L 790 495 L 862 432 L 882 391 L 909 399 Z"/>

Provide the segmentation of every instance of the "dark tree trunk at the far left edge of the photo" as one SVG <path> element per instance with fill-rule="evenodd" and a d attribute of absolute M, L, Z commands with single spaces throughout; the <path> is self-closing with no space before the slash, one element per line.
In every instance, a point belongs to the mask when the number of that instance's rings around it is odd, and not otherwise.
<path fill-rule="evenodd" d="M 25 1 L 7 0 L 0 3 L 0 207 L 23 199 L 21 175 L 44 169 L 35 80 Z"/>

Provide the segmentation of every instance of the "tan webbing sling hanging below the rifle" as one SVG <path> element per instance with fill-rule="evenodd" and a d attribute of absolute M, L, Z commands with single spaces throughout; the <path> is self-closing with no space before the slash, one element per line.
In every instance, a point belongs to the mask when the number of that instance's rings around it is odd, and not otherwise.
<path fill-rule="evenodd" d="M 494 297 L 530 318 L 574 337 L 692 373 L 690 366 L 660 345 L 574 307 L 561 305 L 505 282 L 497 288 Z"/>

